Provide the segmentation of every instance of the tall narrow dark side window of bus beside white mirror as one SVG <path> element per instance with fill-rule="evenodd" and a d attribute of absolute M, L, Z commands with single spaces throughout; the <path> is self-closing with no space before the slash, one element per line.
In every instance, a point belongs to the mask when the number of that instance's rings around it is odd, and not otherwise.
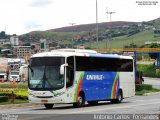
<path fill-rule="evenodd" d="M 74 57 L 68 57 L 67 63 L 66 87 L 70 87 L 74 81 Z"/>

